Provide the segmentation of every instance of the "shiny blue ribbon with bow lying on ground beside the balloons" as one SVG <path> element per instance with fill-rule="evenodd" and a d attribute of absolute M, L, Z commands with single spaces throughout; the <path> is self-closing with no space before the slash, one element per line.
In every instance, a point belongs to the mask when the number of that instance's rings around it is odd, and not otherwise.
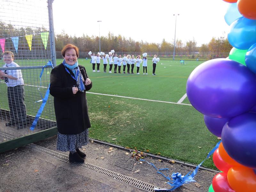
<path fill-rule="evenodd" d="M 220 142 L 221 140 L 215 145 L 215 147 L 208 153 L 207 157 L 204 159 L 204 161 L 206 159 L 208 159 L 213 153 L 214 151 L 219 147 L 220 145 Z M 157 173 L 161 174 L 162 176 L 164 176 L 167 180 L 169 180 L 169 182 L 166 182 L 168 183 L 169 185 L 172 186 L 171 189 L 158 189 L 158 188 L 154 188 L 155 191 L 173 191 L 174 189 L 176 188 L 179 188 L 181 185 L 183 184 L 187 184 L 187 183 L 190 183 L 190 182 L 196 182 L 194 180 L 194 177 L 199 169 L 199 167 L 204 163 L 204 161 L 202 161 L 200 164 L 198 164 L 196 166 L 196 169 L 191 173 L 188 172 L 187 175 L 183 176 L 181 173 L 177 172 L 177 173 L 172 173 L 172 176 L 170 178 L 169 174 L 168 174 L 168 171 L 169 171 L 169 168 L 163 168 L 163 169 L 157 169 L 157 167 L 153 164 L 153 163 L 149 163 L 148 161 L 144 160 L 144 159 L 140 159 L 140 161 L 144 161 L 144 162 L 147 162 L 148 164 L 152 165 Z M 161 171 L 164 171 L 166 170 L 166 175 L 164 175 L 164 173 L 162 173 Z M 191 174 L 190 174 L 191 173 Z"/>

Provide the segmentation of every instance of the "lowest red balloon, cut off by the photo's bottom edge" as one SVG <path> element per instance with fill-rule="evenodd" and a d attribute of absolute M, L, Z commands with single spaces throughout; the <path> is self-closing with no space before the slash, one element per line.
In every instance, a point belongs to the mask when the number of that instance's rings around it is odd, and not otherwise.
<path fill-rule="evenodd" d="M 227 173 L 218 173 L 212 179 L 212 188 L 216 192 L 235 192 L 228 184 Z"/>

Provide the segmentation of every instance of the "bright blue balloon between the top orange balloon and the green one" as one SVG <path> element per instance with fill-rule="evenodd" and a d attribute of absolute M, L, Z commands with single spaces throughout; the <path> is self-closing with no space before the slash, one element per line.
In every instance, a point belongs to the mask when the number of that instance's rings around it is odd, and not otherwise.
<path fill-rule="evenodd" d="M 256 43 L 256 20 L 240 17 L 230 25 L 228 41 L 236 49 L 249 49 Z"/>

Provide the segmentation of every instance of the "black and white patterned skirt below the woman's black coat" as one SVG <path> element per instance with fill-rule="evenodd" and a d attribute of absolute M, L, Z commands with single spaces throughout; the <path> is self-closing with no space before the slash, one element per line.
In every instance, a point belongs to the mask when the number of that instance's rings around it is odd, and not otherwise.
<path fill-rule="evenodd" d="M 58 151 L 75 151 L 77 148 L 87 145 L 89 142 L 89 130 L 76 135 L 65 135 L 58 132 L 57 147 Z"/>

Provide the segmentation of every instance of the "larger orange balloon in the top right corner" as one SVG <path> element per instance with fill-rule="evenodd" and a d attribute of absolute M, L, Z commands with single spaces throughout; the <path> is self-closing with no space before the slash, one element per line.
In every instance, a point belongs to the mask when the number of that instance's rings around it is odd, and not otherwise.
<path fill-rule="evenodd" d="M 237 9 L 247 19 L 256 19 L 256 1 L 255 0 L 238 0 Z"/>

